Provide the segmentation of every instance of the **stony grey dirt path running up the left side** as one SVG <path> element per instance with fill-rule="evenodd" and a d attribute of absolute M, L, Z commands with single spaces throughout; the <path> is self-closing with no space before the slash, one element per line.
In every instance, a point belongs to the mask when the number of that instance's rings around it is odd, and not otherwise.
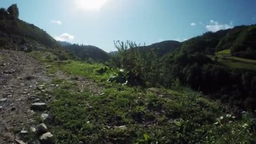
<path fill-rule="evenodd" d="M 23 52 L 0 52 L 0 144 L 12 144 L 31 116 L 38 81 L 51 81 L 42 64 Z"/>

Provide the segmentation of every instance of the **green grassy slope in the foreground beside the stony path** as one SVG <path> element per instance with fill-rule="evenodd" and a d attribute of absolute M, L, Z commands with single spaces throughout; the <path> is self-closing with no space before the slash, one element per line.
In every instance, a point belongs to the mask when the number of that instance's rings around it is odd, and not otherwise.
<path fill-rule="evenodd" d="M 34 55 L 38 53 L 34 53 Z M 112 73 L 99 75 L 101 65 L 79 61 L 47 62 L 69 75 L 90 77 L 104 84 L 103 95 L 78 91 L 77 83 L 55 80 L 59 84 L 48 93 L 56 96 L 49 110 L 56 115 L 51 125 L 57 143 L 75 144 L 163 144 L 163 143 L 249 143 L 256 141 L 254 120 L 248 113 L 229 117 L 218 101 L 183 88 L 143 90 L 106 83 Z M 69 107 L 65 107 L 68 104 Z M 220 117 L 223 116 L 223 119 Z M 215 123 L 215 124 L 214 124 Z"/>

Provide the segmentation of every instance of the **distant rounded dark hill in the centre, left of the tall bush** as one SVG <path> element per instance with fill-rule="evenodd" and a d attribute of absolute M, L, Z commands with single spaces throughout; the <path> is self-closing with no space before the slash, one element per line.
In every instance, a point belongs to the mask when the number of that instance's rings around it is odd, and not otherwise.
<path fill-rule="evenodd" d="M 73 44 L 66 45 L 65 48 L 67 48 L 69 51 L 72 51 L 77 57 L 85 61 L 93 60 L 105 62 L 110 59 L 110 56 L 107 52 L 93 45 Z"/>

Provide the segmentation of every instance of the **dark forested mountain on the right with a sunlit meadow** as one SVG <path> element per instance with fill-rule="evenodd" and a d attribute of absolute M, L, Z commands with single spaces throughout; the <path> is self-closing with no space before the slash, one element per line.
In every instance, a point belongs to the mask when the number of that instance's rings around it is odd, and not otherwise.
<path fill-rule="evenodd" d="M 255 24 L 193 37 L 163 56 L 164 77 L 232 107 L 256 109 L 255 39 Z"/>

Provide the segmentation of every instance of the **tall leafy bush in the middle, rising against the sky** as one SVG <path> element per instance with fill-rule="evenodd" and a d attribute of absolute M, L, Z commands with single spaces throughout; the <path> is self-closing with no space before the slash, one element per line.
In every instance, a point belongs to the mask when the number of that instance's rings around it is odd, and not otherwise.
<path fill-rule="evenodd" d="M 141 49 L 132 41 L 114 43 L 118 52 L 112 55 L 112 67 L 128 72 L 128 83 L 131 85 L 157 86 L 161 79 L 157 49 Z"/>

